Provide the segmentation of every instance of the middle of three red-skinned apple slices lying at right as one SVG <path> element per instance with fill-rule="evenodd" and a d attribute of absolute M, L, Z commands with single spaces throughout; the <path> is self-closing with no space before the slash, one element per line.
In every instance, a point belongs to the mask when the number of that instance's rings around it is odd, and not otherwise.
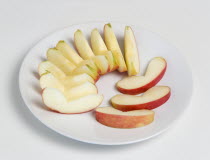
<path fill-rule="evenodd" d="M 112 105 L 121 111 L 154 109 L 164 104 L 171 95 L 167 86 L 155 86 L 141 96 L 118 94 L 111 99 Z"/>

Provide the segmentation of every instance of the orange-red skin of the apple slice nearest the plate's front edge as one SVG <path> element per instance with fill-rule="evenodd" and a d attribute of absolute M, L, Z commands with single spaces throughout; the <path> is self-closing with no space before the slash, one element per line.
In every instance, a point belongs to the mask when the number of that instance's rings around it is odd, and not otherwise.
<path fill-rule="evenodd" d="M 99 123 L 113 128 L 137 128 L 148 125 L 154 120 L 154 114 L 145 116 L 126 116 L 106 114 L 96 111 L 95 116 Z"/>

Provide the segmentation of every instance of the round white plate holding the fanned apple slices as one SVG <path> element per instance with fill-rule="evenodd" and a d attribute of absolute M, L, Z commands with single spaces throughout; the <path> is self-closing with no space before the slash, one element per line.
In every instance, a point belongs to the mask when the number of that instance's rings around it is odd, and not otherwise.
<path fill-rule="evenodd" d="M 112 25 L 122 44 L 125 24 L 112 23 Z M 59 40 L 65 40 L 72 45 L 73 35 L 77 29 L 81 29 L 89 38 L 92 29 L 98 28 L 102 32 L 103 26 L 104 23 L 73 25 L 52 33 L 36 44 L 25 57 L 19 74 L 19 86 L 25 104 L 34 116 L 49 128 L 83 142 L 119 145 L 143 141 L 158 135 L 166 130 L 188 106 L 193 89 L 192 75 L 185 59 L 174 46 L 158 35 L 133 25 L 142 70 L 144 71 L 149 60 L 156 56 L 164 57 L 168 63 L 166 74 L 159 85 L 170 86 L 172 95 L 167 103 L 155 109 L 155 121 L 152 124 L 135 129 L 115 129 L 98 123 L 94 112 L 65 115 L 45 109 L 40 94 L 37 67 L 45 59 L 47 49 L 54 47 Z M 113 72 L 99 79 L 97 82 L 99 93 L 105 97 L 101 107 L 109 105 L 109 99 L 119 93 L 114 86 L 124 75 Z"/>

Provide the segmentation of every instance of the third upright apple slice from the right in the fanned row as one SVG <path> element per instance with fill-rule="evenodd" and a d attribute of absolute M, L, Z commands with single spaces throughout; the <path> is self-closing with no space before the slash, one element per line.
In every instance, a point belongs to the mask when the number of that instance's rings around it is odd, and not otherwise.
<path fill-rule="evenodd" d="M 108 51 L 99 31 L 93 29 L 91 32 L 91 46 L 95 55 L 104 55 L 109 63 L 109 71 L 114 71 L 118 68 L 114 61 L 114 57 L 111 51 Z"/>

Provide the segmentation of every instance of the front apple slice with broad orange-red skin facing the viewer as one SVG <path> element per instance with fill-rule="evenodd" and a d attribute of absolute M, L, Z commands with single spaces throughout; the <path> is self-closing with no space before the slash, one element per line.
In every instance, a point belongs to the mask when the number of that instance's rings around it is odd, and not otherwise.
<path fill-rule="evenodd" d="M 96 120 L 113 128 L 137 128 L 153 122 L 155 113 L 151 110 L 122 112 L 112 107 L 96 109 Z"/>

